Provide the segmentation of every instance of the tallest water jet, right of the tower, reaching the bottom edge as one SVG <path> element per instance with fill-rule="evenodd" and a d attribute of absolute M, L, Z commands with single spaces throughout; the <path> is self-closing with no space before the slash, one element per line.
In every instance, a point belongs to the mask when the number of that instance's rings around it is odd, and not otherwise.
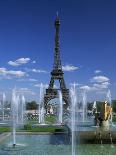
<path fill-rule="evenodd" d="M 76 154 L 76 84 L 74 83 L 70 90 L 71 94 L 71 130 L 72 130 L 72 155 Z"/>

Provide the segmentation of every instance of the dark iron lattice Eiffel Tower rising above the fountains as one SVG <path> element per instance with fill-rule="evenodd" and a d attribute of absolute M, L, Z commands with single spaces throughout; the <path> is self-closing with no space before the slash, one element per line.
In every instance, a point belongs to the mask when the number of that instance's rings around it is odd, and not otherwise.
<path fill-rule="evenodd" d="M 62 93 L 63 101 L 65 104 L 65 109 L 69 106 L 70 98 L 69 98 L 69 89 L 66 88 L 64 81 L 64 72 L 62 70 L 61 59 L 60 59 L 60 47 L 59 47 L 59 28 L 60 28 L 60 19 L 58 15 L 55 20 L 55 52 L 54 52 L 54 65 L 53 70 L 51 72 L 51 80 L 48 88 L 46 89 L 44 95 L 44 107 L 47 113 L 47 105 L 51 99 L 58 98 L 58 91 L 60 90 Z M 60 88 L 54 88 L 55 80 L 59 81 Z"/>

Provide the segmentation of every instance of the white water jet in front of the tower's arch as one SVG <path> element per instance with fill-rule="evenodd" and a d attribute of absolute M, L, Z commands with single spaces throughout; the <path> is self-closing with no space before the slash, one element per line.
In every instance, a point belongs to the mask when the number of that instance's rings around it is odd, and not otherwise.
<path fill-rule="evenodd" d="M 59 90 L 58 91 L 59 95 L 59 123 L 62 124 L 63 122 L 63 99 L 62 99 L 62 93 Z"/>

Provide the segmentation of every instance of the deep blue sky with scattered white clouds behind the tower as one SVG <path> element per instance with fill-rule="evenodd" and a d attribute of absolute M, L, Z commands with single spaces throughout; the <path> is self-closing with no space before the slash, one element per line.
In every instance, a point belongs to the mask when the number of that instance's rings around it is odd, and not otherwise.
<path fill-rule="evenodd" d="M 39 98 L 40 82 L 50 80 L 58 11 L 67 87 L 78 83 L 90 99 L 104 99 L 110 89 L 116 98 L 115 8 L 115 0 L 1 0 L 0 92 L 16 86 Z"/>

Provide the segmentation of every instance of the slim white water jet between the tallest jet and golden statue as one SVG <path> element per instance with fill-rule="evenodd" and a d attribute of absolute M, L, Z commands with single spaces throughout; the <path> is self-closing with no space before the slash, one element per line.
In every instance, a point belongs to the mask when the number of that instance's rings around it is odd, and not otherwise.
<path fill-rule="evenodd" d="M 86 91 L 84 90 L 82 93 L 82 121 L 85 122 L 87 118 L 87 96 Z"/>

